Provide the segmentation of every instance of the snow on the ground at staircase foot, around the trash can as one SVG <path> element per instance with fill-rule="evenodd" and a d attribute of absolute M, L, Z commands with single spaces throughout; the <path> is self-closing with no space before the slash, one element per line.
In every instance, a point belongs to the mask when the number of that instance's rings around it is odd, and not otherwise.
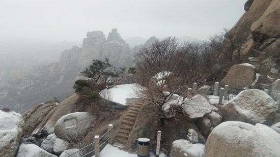
<path fill-rule="evenodd" d="M 136 153 L 130 153 L 125 150 L 121 150 L 120 148 L 107 144 L 104 149 L 99 154 L 100 157 L 136 157 Z M 150 157 L 155 157 L 154 153 L 150 152 Z M 159 154 L 159 157 L 167 157 L 163 153 Z"/>

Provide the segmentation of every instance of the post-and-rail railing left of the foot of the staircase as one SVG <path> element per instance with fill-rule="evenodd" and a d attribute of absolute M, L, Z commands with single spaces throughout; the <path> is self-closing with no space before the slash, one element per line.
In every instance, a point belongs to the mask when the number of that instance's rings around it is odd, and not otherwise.
<path fill-rule="evenodd" d="M 98 156 L 99 156 L 99 152 L 100 152 L 100 151 L 99 151 L 100 148 L 101 148 L 106 142 L 109 141 L 109 143 L 112 144 L 112 142 L 113 142 L 113 133 L 112 133 L 113 127 L 114 127 L 113 124 L 109 124 L 109 125 L 108 125 L 108 131 L 107 131 L 105 134 L 103 134 L 100 138 L 99 138 L 98 135 L 94 136 L 94 142 L 92 142 L 91 144 L 89 144 L 89 145 L 87 145 L 87 146 L 85 146 L 85 147 L 79 149 L 78 151 L 73 152 L 72 154 L 68 155 L 67 157 L 71 157 L 71 156 L 72 156 L 73 154 L 75 154 L 75 153 L 82 152 L 82 150 L 85 150 L 86 148 L 88 148 L 88 147 L 91 146 L 91 145 L 94 145 L 94 149 L 91 150 L 90 152 L 88 152 L 88 153 L 82 155 L 81 157 L 87 156 L 87 155 L 89 155 L 89 154 L 91 154 L 91 153 L 95 153 L 95 156 L 98 157 Z M 103 137 L 105 137 L 108 133 L 110 133 L 109 137 L 108 137 L 107 139 L 105 139 L 104 142 L 103 142 L 101 145 L 99 145 L 99 141 L 100 141 Z"/>

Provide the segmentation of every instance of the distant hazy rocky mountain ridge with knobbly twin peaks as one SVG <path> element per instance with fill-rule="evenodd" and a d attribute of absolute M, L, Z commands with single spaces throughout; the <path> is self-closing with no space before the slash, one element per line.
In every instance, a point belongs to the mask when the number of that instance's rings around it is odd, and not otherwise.
<path fill-rule="evenodd" d="M 53 97 L 64 100 L 74 93 L 72 86 L 77 74 L 93 59 L 104 60 L 105 57 L 116 67 L 131 66 L 131 50 L 116 28 L 107 39 L 101 31 L 88 32 L 82 47 L 65 50 L 59 62 L 30 70 L 3 72 L 0 76 L 0 108 L 23 112 Z"/>

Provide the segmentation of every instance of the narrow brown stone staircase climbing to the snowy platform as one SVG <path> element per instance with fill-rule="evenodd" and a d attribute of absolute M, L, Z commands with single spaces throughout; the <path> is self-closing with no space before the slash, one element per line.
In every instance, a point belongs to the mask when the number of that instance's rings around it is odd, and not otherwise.
<path fill-rule="evenodd" d="M 133 102 L 129 105 L 129 110 L 127 114 L 123 117 L 122 123 L 119 127 L 119 130 L 115 136 L 115 141 L 120 142 L 124 146 L 128 140 L 129 134 L 133 128 L 138 111 L 142 106 L 142 102 Z"/>

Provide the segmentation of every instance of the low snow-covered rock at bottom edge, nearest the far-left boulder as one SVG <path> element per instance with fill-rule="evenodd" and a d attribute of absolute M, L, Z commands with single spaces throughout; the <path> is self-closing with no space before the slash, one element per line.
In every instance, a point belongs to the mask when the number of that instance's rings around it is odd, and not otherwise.
<path fill-rule="evenodd" d="M 18 147 L 18 152 L 16 157 L 57 157 L 56 155 L 53 155 L 44 149 L 40 148 L 39 146 L 35 144 L 20 144 Z"/>

